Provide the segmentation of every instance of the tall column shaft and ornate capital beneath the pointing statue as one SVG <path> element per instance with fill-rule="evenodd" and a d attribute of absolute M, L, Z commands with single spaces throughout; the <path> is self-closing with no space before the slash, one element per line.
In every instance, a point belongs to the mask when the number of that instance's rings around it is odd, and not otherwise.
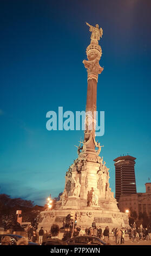
<path fill-rule="evenodd" d="M 96 95 L 98 74 L 101 74 L 103 68 L 99 64 L 102 55 L 102 49 L 97 40 L 91 40 L 87 47 L 87 58 L 83 64 L 88 72 L 87 106 L 86 106 L 86 130 L 84 131 L 84 141 L 86 143 L 86 152 L 95 153 L 95 125 L 96 125 Z"/>

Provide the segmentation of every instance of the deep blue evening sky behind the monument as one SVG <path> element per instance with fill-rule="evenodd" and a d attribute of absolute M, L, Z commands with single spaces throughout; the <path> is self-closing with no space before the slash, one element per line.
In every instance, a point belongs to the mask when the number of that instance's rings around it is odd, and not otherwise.
<path fill-rule="evenodd" d="M 1 1 L 0 193 L 44 205 L 64 190 L 64 176 L 77 157 L 83 131 L 48 131 L 48 111 L 84 111 L 90 43 L 86 21 L 103 28 L 104 66 L 97 110 L 105 112 L 105 133 L 97 137 L 101 156 L 136 157 L 137 192 L 150 173 L 150 1 Z M 65 119 L 64 119 L 65 120 Z"/>

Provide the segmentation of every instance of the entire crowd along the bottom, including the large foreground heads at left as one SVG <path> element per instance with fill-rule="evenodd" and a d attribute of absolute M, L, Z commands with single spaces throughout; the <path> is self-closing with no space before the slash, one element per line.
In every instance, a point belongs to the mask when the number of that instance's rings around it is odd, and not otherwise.
<path fill-rule="evenodd" d="M 58 234 L 63 232 L 62 240 L 58 238 Z M 138 242 L 140 240 L 151 240 L 151 228 L 143 228 L 142 225 L 137 227 L 135 222 L 130 228 L 113 228 L 109 230 L 107 226 L 103 231 L 101 226 L 97 227 L 92 223 L 91 227 L 75 227 L 72 228 L 59 228 L 57 224 L 51 226 L 50 231 L 43 230 L 43 227 L 37 232 L 29 225 L 27 229 L 27 238 L 22 237 L 17 241 L 17 245 L 28 245 L 28 242 L 36 242 L 38 245 L 67 245 L 65 241 L 71 237 L 90 235 L 97 236 L 109 244 L 110 236 L 116 244 L 124 243 L 125 234 L 129 235 L 130 242 Z M 5 236 L 1 241 L 1 245 L 10 245 L 10 237 Z"/>

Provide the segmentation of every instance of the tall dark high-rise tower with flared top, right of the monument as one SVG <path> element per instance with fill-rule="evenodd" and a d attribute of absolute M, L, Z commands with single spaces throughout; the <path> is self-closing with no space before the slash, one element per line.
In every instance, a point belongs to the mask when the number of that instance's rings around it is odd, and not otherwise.
<path fill-rule="evenodd" d="M 119 202 L 120 196 L 135 194 L 135 160 L 133 156 L 119 156 L 114 159 L 115 163 L 115 198 Z"/>

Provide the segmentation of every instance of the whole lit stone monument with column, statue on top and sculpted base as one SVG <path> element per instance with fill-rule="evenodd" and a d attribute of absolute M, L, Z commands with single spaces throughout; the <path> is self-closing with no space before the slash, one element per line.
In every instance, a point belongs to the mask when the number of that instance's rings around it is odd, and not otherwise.
<path fill-rule="evenodd" d="M 102 56 L 99 40 L 103 29 L 97 24 L 95 27 L 86 24 L 91 40 L 86 51 L 88 60 L 83 60 L 88 73 L 84 138 L 77 147 L 77 159 L 65 174 L 64 191 L 56 208 L 42 211 L 38 218 L 39 227 L 47 230 L 52 223 L 62 227 L 65 217 L 75 213 L 77 227 L 91 227 L 94 221 L 102 228 L 107 225 L 109 228 L 129 226 L 127 214 L 117 208 L 114 192 L 109 187 L 109 168 L 100 156 L 103 146 L 95 141 L 97 81 L 103 71 L 99 64 Z"/>

